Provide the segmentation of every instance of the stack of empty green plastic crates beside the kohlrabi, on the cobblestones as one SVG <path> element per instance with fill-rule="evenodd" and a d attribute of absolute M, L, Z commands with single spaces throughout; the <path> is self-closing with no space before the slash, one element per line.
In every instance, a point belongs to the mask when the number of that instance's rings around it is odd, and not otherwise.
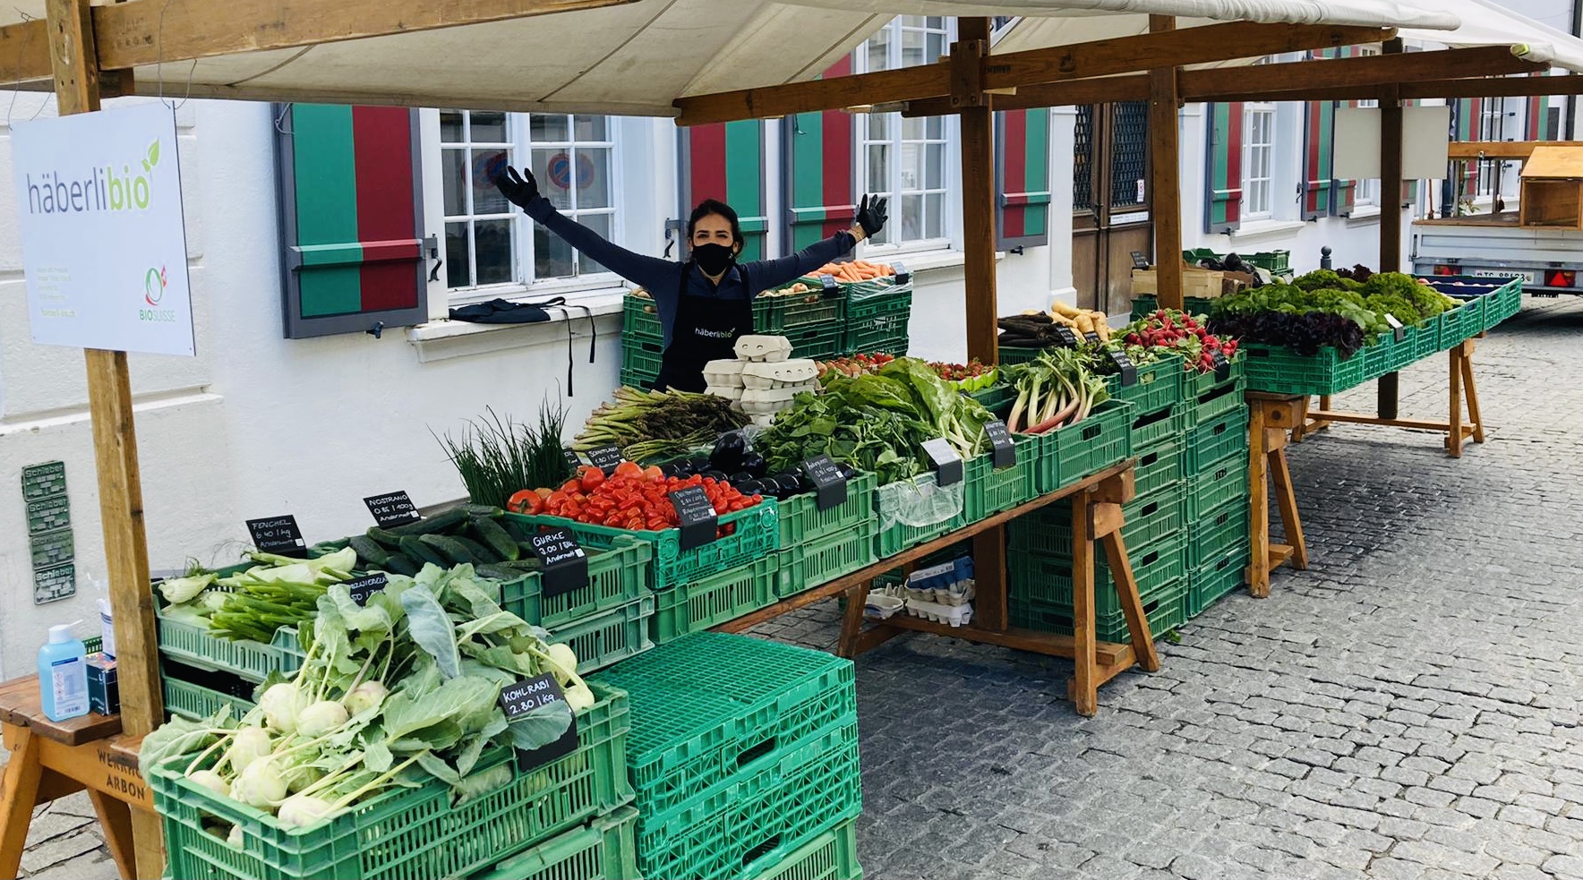
<path fill-rule="evenodd" d="M 632 700 L 627 771 L 641 877 L 861 875 L 850 660 L 693 633 L 597 681 Z"/>

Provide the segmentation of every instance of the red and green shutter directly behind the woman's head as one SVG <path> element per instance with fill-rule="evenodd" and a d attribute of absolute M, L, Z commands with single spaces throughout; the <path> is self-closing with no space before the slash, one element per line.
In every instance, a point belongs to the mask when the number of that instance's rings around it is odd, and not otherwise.
<path fill-rule="evenodd" d="M 736 209 L 742 260 L 765 258 L 769 215 L 765 199 L 765 123 L 725 122 L 682 128 L 682 217 L 703 199 Z"/>

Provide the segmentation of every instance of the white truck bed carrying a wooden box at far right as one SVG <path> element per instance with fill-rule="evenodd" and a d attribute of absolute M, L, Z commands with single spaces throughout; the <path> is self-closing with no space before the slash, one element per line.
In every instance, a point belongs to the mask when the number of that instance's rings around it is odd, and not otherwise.
<path fill-rule="evenodd" d="M 1529 204 L 1520 211 L 1414 220 L 1409 252 L 1414 272 L 1520 277 L 1523 293 L 1583 294 L 1583 223 L 1578 218 L 1583 206 L 1578 206 L 1577 196 L 1578 187 L 1583 187 L 1583 169 L 1577 168 L 1577 157 L 1583 155 L 1580 146 L 1517 141 L 1464 142 L 1452 147 L 1453 158 L 1458 154 L 1521 160 L 1532 157 L 1534 161 L 1523 168 L 1521 196 Z M 1550 174 L 1547 168 L 1555 168 L 1556 160 L 1574 166 L 1569 174 L 1577 177 Z M 1564 203 L 1569 190 L 1567 207 Z"/>

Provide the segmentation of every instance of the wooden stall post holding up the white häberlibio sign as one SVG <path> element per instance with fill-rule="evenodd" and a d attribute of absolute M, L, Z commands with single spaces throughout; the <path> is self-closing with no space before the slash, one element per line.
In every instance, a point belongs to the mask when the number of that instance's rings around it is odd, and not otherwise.
<path fill-rule="evenodd" d="M 60 116 L 100 109 L 100 70 L 89 0 L 49 0 L 49 57 Z M 87 350 L 89 415 L 98 465 L 104 560 L 116 616 L 116 669 L 120 677 L 120 725 L 144 736 L 165 715 L 149 590 L 149 544 L 142 524 L 142 481 L 133 426 L 131 378 L 125 351 Z M 160 820 L 131 810 L 138 877 L 165 874 Z"/>

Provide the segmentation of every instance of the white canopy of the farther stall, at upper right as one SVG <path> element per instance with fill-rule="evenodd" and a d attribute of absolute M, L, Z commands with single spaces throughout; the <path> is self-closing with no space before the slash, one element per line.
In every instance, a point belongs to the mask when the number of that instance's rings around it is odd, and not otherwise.
<path fill-rule="evenodd" d="M 823 0 L 799 0 L 799 2 L 823 2 Z M 875 0 L 882 2 L 882 0 Z M 1132 0 L 1091 0 L 1094 6 L 1119 8 L 1132 6 Z M 1164 2 L 1164 0 L 1162 0 Z M 1143 5 L 1141 0 L 1137 5 Z M 1209 6 L 1213 3 L 1183 3 L 1183 6 Z M 1246 3 L 1236 3 L 1239 6 L 1263 6 L 1255 0 L 1247 0 Z M 1279 3 L 1276 3 L 1279 5 Z M 1349 22 L 1347 16 L 1350 9 L 1342 3 L 1295 3 L 1306 6 L 1309 11 L 1322 9 L 1327 24 L 1344 24 Z M 1426 3 L 1428 5 L 1428 3 Z M 1450 30 L 1442 28 L 1441 24 L 1423 25 L 1412 19 L 1410 9 L 1403 9 L 1395 3 L 1371 3 L 1369 9 L 1376 9 L 1377 14 L 1387 17 L 1395 17 L 1399 22 L 1398 36 L 1401 36 L 1409 44 L 1428 44 L 1433 47 L 1448 46 L 1453 49 L 1466 49 L 1475 46 L 1510 46 L 1512 51 L 1532 62 L 1551 62 L 1558 66 L 1566 66 L 1575 71 L 1583 71 L 1583 40 L 1570 36 L 1561 30 L 1550 25 L 1536 22 L 1534 19 L 1520 16 L 1510 9 L 1494 5 L 1490 0 L 1434 0 L 1434 8 L 1442 17 L 1453 17 L 1458 24 L 1452 25 Z M 1027 16 L 1018 21 L 1013 27 L 1005 30 L 1005 35 L 996 41 L 996 52 L 1018 52 L 1024 49 L 1042 49 L 1046 46 L 1064 46 L 1069 43 L 1081 43 L 1086 40 L 1113 40 L 1118 36 L 1133 36 L 1138 33 L 1149 32 L 1149 19 L 1141 14 L 1145 9 L 1135 9 L 1135 14 L 1111 14 L 1111 16 L 1095 16 L 1095 14 L 1080 14 L 1070 13 L 1065 16 Z M 1186 13 L 1183 13 L 1186 14 Z M 1192 21 L 1179 19 L 1179 27 L 1194 27 L 1209 24 L 1208 21 Z M 1372 22 L 1365 22 L 1372 24 Z M 1235 65 L 1251 65 L 1257 59 L 1239 59 L 1232 62 L 1220 62 L 1217 65 L 1203 66 L 1235 66 Z M 1445 71 L 1447 76 L 1455 76 L 1456 71 Z"/>

